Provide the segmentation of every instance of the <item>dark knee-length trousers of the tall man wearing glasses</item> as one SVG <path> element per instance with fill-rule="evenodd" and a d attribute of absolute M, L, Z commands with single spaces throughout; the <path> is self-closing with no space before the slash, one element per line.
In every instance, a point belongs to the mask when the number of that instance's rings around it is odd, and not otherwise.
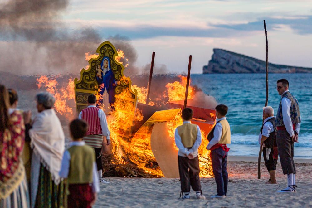
<path fill-rule="evenodd" d="M 294 142 L 286 130 L 278 130 L 276 133 L 276 144 L 280 154 L 280 164 L 283 174 L 296 173 L 294 162 Z"/>

